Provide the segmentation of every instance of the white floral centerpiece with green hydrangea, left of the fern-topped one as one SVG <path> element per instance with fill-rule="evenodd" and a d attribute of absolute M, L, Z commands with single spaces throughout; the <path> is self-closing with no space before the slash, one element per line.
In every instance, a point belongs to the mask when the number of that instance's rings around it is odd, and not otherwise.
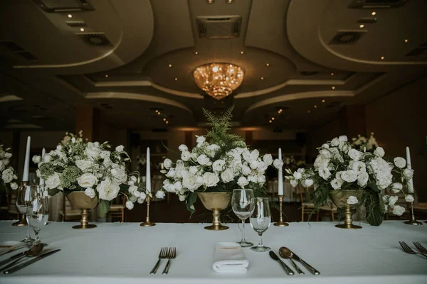
<path fill-rule="evenodd" d="M 65 195 L 70 192 L 85 192 L 90 198 L 97 197 L 100 215 L 104 216 L 110 209 L 110 202 L 117 195 L 129 195 L 137 190 L 135 175 L 127 175 L 125 165 L 130 161 L 123 146 L 110 151 L 111 146 L 105 143 L 88 142 L 75 137 L 72 133 L 62 143 L 41 157 L 33 156 L 38 165 L 37 175 L 45 180 L 48 194 L 53 196 L 59 191 Z M 126 207 L 133 208 L 128 199 Z"/>

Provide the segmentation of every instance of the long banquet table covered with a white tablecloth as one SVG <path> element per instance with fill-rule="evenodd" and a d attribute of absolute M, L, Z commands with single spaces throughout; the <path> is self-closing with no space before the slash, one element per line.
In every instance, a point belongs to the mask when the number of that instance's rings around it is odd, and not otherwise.
<path fill-rule="evenodd" d="M 26 227 L 0 222 L 0 242 L 23 239 Z M 286 275 L 267 252 L 243 249 L 249 261 L 247 273 L 224 274 L 212 270 L 214 246 L 220 241 L 238 241 L 238 224 L 226 231 L 207 231 L 204 224 L 98 223 L 97 228 L 75 230 L 70 222 L 51 222 L 40 234 L 47 250 L 61 249 L 11 275 L 0 283 L 427 283 L 427 259 L 404 253 L 399 241 L 419 241 L 427 247 L 427 224 L 409 226 L 385 221 L 359 230 L 334 227 L 337 222 L 295 222 L 287 227 L 270 226 L 263 236 L 266 246 L 278 251 L 287 246 L 310 263 L 320 275 Z M 246 239 L 258 235 L 246 226 Z M 164 246 L 176 247 L 168 275 L 150 275 Z M 414 247 L 413 247 L 414 249 Z M 19 250 L 22 251 L 22 250 Z M 16 252 L 0 256 L 0 261 Z M 291 267 L 288 260 L 285 263 Z"/>

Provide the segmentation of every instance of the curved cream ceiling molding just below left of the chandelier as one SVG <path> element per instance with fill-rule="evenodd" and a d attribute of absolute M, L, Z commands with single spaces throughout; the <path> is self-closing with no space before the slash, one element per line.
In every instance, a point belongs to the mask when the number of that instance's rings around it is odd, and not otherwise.
<path fill-rule="evenodd" d="M 178 107 L 179 109 L 184 109 L 189 111 L 190 114 L 193 114 L 193 111 L 191 111 L 191 109 L 186 107 L 184 104 L 175 102 L 172 99 L 150 96 L 149 94 L 136 94 L 128 92 L 90 92 L 86 94 L 86 99 L 134 99 L 138 101 L 168 104 L 169 106 Z"/>

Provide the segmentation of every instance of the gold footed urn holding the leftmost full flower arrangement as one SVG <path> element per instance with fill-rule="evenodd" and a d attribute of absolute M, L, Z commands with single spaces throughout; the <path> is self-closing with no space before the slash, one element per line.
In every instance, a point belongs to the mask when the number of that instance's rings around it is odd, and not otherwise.
<path fill-rule="evenodd" d="M 82 210 L 82 219 L 80 219 L 80 225 L 73 226 L 73 229 L 92 229 L 96 225 L 89 224 L 88 215 L 89 210 L 97 207 L 97 197 L 90 198 L 85 195 L 83 191 L 73 191 L 67 195 L 68 200 L 75 209 Z"/>

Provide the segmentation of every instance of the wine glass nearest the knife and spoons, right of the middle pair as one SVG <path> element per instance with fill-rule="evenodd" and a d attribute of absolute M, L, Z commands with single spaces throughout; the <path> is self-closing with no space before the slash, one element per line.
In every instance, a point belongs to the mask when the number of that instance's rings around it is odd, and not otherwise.
<path fill-rule="evenodd" d="M 270 206 L 268 205 L 267 197 L 255 198 L 255 210 L 253 210 L 250 221 L 252 229 L 260 236 L 258 246 L 253 246 L 251 249 L 253 251 L 269 251 L 270 248 L 263 245 L 263 232 L 267 231 L 271 222 Z"/>

